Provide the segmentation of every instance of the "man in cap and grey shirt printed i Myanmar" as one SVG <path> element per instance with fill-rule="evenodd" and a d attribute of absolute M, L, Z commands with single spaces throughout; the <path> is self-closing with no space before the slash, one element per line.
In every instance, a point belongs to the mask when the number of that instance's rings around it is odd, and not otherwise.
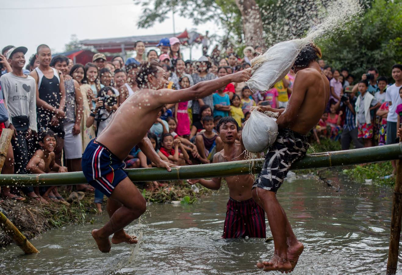
<path fill-rule="evenodd" d="M 14 47 L 8 50 L 6 58 L 12 70 L 0 77 L 4 103 L 8 111 L 8 121 L 5 124 L 14 131 L 11 144 L 14 159 L 18 160 L 14 163 L 16 174 L 27 174 L 25 167 L 33 154 L 29 145 L 33 142 L 31 140 L 33 132 L 37 132 L 36 82 L 33 77 L 23 73 L 27 50 L 25 47 Z M 23 191 L 28 196 L 39 200 L 33 187 L 25 187 Z M 21 200 L 12 194 L 7 196 L 14 200 Z M 43 198 L 42 201 L 47 203 Z"/>

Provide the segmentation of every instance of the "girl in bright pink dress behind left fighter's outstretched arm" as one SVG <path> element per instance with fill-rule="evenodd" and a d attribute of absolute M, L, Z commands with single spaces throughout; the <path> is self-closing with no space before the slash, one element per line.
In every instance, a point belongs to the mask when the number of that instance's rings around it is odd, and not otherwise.
<path fill-rule="evenodd" d="M 188 88 L 190 81 L 188 77 L 182 77 L 179 80 L 181 89 Z M 174 117 L 177 121 L 176 133 L 181 137 L 190 136 L 190 117 L 188 112 L 189 101 L 176 103 L 174 107 Z"/>

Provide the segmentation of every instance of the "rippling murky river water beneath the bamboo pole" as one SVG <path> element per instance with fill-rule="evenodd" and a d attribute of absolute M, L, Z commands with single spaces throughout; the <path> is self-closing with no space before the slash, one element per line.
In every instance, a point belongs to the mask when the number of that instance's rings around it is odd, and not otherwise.
<path fill-rule="evenodd" d="M 385 273 L 391 188 L 342 182 L 330 187 L 301 179 L 279 190 L 279 201 L 305 246 L 292 274 Z M 113 245 L 107 254 L 98 251 L 90 235 L 107 221 L 106 214 L 96 216 L 94 224 L 51 230 L 32 240 L 39 254 L 24 255 L 15 245 L 2 250 L 0 273 L 261 273 L 255 263 L 272 256 L 273 242 L 221 239 L 227 201 L 223 189 L 193 205 L 152 204 L 140 222 L 127 227 L 131 234 L 142 234 L 141 244 Z"/>

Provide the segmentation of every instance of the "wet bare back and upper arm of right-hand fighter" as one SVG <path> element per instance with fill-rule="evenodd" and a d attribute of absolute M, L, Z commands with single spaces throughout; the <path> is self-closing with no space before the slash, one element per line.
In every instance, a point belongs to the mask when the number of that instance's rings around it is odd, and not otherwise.
<path fill-rule="evenodd" d="M 282 116 L 295 118 L 289 121 L 287 127 L 300 134 L 308 134 L 320 121 L 329 96 L 329 81 L 319 67 L 310 66 L 298 71 L 289 103 L 282 113 Z"/>

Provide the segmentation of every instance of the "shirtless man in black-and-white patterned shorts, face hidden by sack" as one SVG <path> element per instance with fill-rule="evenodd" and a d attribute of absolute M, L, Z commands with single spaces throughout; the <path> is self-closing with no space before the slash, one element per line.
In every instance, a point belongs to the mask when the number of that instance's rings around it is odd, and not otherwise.
<path fill-rule="evenodd" d="M 304 249 L 293 234 L 276 192 L 291 164 L 306 155 L 309 146 L 306 134 L 318 123 L 328 102 L 329 82 L 316 61 L 318 58 L 321 58 L 321 51 L 312 43 L 297 56 L 293 65 L 297 74 L 286 109 L 254 107 L 260 112 L 280 113 L 277 119 L 279 134 L 268 149 L 263 169 L 252 190 L 254 200 L 267 213 L 275 245 L 271 260 L 257 264 L 264 271 L 292 271 Z"/>

